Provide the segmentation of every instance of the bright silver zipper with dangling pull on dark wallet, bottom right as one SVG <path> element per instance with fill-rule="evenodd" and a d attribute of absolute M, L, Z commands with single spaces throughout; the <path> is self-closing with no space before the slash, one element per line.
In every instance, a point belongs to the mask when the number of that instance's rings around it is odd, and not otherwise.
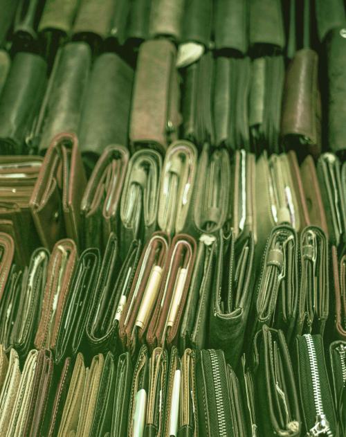
<path fill-rule="evenodd" d="M 333 437 L 333 433 L 331 432 L 329 422 L 323 409 L 320 374 L 318 373 L 315 345 L 313 344 L 311 334 L 304 334 L 304 339 L 307 342 L 307 351 L 309 354 L 309 364 L 311 371 L 311 382 L 313 386 L 313 402 L 315 404 L 316 410 L 315 425 L 313 425 L 313 427 L 309 429 L 309 431 L 307 431 L 307 436 L 316 437 L 327 435 L 328 437 Z"/>

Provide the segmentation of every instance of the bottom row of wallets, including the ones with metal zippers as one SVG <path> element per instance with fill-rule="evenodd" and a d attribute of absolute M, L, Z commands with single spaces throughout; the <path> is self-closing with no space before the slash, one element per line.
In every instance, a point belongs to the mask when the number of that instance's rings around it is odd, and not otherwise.
<path fill-rule="evenodd" d="M 82 353 L 53 364 L 49 350 L 0 350 L 3 436 L 345 436 L 346 342 L 325 357 L 320 335 L 295 339 L 264 325 L 237 369 L 222 350 L 142 346 Z"/>

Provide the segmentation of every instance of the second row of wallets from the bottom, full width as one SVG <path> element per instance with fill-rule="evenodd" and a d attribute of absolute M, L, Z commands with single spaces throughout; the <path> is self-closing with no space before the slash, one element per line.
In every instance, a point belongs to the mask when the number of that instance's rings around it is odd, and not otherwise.
<path fill-rule="evenodd" d="M 0 233 L 0 249 L 0 343 L 21 357 L 47 348 L 61 363 L 78 351 L 175 345 L 221 348 L 236 367 L 264 324 L 289 345 L 307 333 L 346 339 L 346 255 L 329 250 L 318 226 L 299 237 L 275 226 L 260 257 L 252 233 L 237 240 L 232 231 L 197 241 L 158 231 L 126 253 L 111 233 L 103 256 L 95 247 L 79 256 L 64 239 L 24 268 L 10 235 Z"/>

